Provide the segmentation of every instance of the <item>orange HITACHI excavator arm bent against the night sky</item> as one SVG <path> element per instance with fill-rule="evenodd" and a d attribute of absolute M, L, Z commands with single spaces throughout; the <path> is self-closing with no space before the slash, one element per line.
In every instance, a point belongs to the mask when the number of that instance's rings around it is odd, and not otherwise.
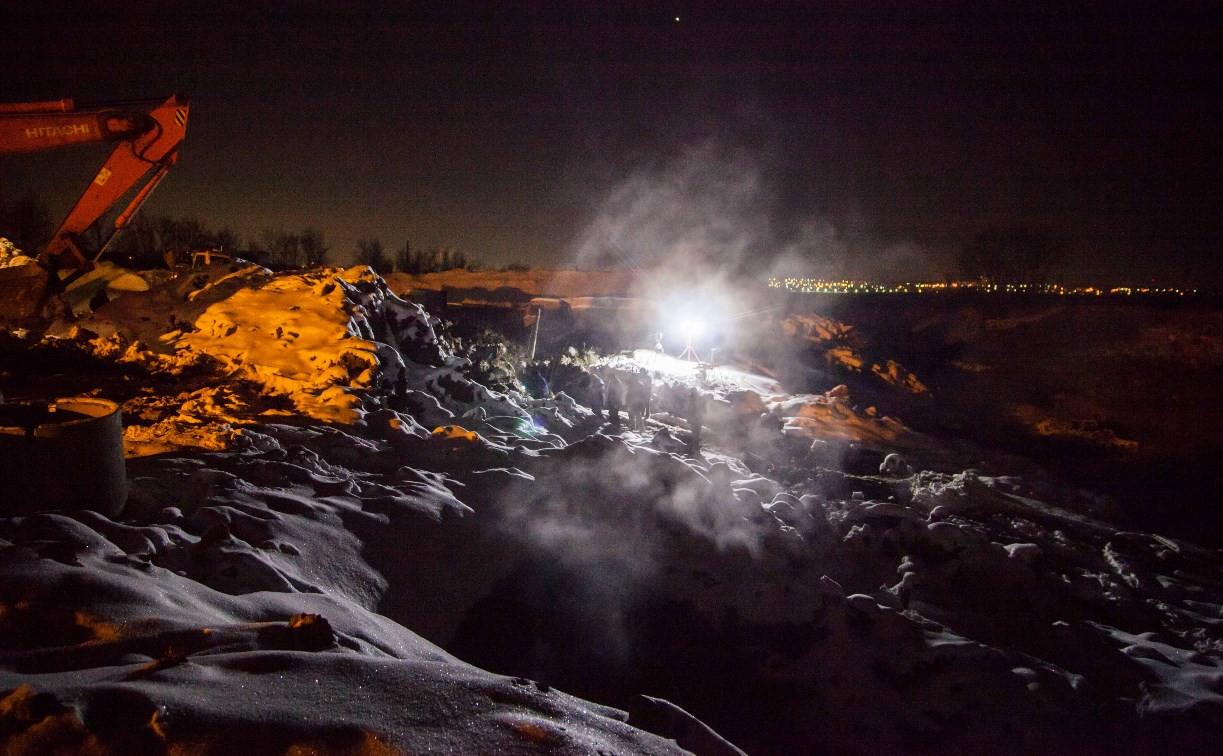
<path fill-rule="evenodd" d="M 33 152 L 89 142 L 117 142 L 110 158 L 39 253 L 39 263 L 53 273 L 88 270 L 115 234 L 179 159 L 187 133 L 190 105 L 185 94 L 144 105 L 78 110 L 72 100 L 0 104 L 0 153 Z M 143 185 L 142 185 L 143 182 Z M 78 245 L 79 235 L 119 199 L 141 185 L 119 217 L 102 250 L 91 259 Z"/>

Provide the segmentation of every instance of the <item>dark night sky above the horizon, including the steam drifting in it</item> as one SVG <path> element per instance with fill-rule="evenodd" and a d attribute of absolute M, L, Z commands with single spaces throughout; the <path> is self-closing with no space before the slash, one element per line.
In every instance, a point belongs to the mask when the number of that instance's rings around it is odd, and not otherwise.
<path fill-rule="evenodd" d="M 13 5 L 0 102 L 187 92 L 149 212 L 341 261 L 937 279 L 996 224 L 1066 240 L 1071 283 L 1223 286 L 1210 2 Z M 5 157 L 0 188 L 64 197 L 104 154 Z"/>

